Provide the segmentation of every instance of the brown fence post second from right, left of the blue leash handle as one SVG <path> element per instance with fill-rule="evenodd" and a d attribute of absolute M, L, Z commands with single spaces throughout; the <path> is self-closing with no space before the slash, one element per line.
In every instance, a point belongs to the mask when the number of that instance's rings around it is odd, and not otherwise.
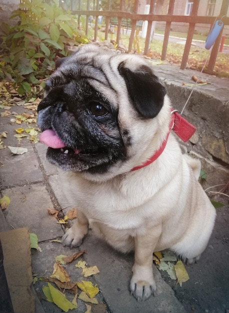
<path fill-rule="evenodd" d="M 192 16 L 197 15 L 198 6 L 199 6 L 199 0 L 193 0 L 193 7 L 192 7 L 190 15 Z M 180 64 L 180 69 L 184 69 L 186 67 L 194 30 L 195 30 L 195 23 L 189 23 L 186 43 L 184 46 L 182 61 Z"/>

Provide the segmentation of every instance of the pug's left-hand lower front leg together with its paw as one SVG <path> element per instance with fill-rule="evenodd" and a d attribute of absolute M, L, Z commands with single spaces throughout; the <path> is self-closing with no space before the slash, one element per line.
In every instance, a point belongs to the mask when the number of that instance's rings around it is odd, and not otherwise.
<path fill-rule="evenodd" d="M 87 232 L 88 219 L 81 211 L 77 210 L 77 220 L 62 236 L 62 245 L 71 248 L 80 245 Z"/>

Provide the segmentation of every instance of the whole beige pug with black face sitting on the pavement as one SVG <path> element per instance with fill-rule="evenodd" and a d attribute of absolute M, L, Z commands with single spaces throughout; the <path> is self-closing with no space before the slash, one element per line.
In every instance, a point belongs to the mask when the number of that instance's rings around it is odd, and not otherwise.
<path fill-rule="evenodd" d="M 214 225 L 200 162 L 181 153 L 171 130 L 176 119 L 148 60 L 93 44 L 58 60 L 38 105 L 40 141 L 77 207 L 62 244 L 80 245 L 90 224 L 115 249 L 134 250 L 137 300 L 156 291 L 153 251 L 193 263 Z"/>

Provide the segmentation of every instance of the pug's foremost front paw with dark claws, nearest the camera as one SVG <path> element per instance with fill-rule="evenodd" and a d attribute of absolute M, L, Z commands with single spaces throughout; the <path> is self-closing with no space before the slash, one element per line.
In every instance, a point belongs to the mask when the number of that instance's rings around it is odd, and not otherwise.
<path fill-rule="evenodd" d="M 148 277 L 145 277 L 148 276 Z M 142 275 L 140 272 L 132 275 L 130 280 L 130 295 L 133 295 L 137 301 L 146 300 L 151 294 L 156 293 L 156 283 L 151 273 L 149 275 Z"/>

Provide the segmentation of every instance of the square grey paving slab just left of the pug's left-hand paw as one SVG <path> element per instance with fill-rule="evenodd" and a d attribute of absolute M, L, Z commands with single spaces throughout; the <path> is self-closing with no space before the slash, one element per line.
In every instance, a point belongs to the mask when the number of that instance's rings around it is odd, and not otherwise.
<path fill-rule="evenodd" d="M 61 225 L 47 213 L 47 208 L 53 206 L 42 183 L 8 188 L 4 194 L 10 198 L 4 215 L 14 228 L 28 227 L 30 232 L 36 233 L 39 241 L 62 236 Z"/>

